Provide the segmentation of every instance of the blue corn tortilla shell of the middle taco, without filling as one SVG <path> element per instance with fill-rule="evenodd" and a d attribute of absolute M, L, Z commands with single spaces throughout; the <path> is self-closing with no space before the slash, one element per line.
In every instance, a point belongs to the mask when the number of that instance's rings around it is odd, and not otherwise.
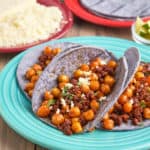
<path fill-rule="evenodd" d="M 50 90 L 51 88 L 55 87 L 57 84 L 57 77 L 59 74 L 66 74 L 69 77 L 72 76 L 72 73 L 74 70 L 76 70 L 81 64 L 88 63 L 90 60 L 94 59 L 95 57 L 100 57 L 102 60 L 105 60 L 106 62 L 109 60 L 116 60 L 118 63 L 117 72 L 118 74 L 115 76 L 116 81 L 119 84 L 119 88 L 123 88 L 124 82 L 126 79 L 126 75 L 128 72 L 126 59 L 123 57 L 120 60 L 117 60 L 116 57 L 108 52 L 105 49 L 102 48 L 95 48 L 90 46 L 83 46 L 75 49 L 71 49 L 69 51 L 65 51 L 58 56 L 55 57 L 55 59 L 52 60 L 51 64 L 47 66 L 47 68 L 44 70 L 42 75 L 40 76 L 33 92 L 32 96 L 32 109 L 33 112 L 36 114 L 38 108 L 40 107 L 42 103 L 42 97 L 44 95 L 44 92 L 46 90 Z M 119 90 L 117 88 L 117 90 Z M 110 98 L 116 96 L 114 92 L 112 92 L 113 95 Z M 102 104 L 103 109 L 108 105 L 108 102 Z M 55 127 L 53 124 L 51 124 L 49 118 L 40 118 L 43 122 Z M 94 122 L 95 125 L 95 122 Z M 84 132 L 88 131 L 90 127 L 88 128 L 85 126 Z"/>

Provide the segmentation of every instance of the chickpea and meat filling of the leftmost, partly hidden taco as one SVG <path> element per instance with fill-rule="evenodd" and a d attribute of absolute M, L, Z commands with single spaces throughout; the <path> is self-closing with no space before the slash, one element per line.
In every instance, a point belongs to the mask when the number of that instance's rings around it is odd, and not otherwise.
<path fill-rule="evenodd" d="M 37 82 L 40 74 L 46 68 L 46 66 L 50 63 L 50 61 L 61 52 L 60 48 L 45 47 L 42 51 L 41 55 L 38 58 L 36 64 L 33 64 L 25 73 L 25 79 L 28 81 L 25 85 L 25 92 L 29 97 L 32 97 L 33 89 L 35 83 Z"/>

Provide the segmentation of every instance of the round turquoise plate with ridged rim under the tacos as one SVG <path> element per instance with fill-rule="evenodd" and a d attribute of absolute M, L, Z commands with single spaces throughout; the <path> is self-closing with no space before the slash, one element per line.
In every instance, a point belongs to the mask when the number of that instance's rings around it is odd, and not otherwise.
<path fill-rule="evenodd" d="M 107 48 L 121 56 L 123 52 L 135 46 L 139 48 L 142 60 L 150 61 L 148 46 L 110 37 L 75 37 L 52 42 L 76 42 Z M 44 43 L 28 51 L 43 48 Z M 16 67 L 25 51 L 12 59 L 0 74 L 0 113 L 6 123 L 18 134 L 33 143 L 52 150 L 148 150 L 150 149 L 150 127 L 136 131 L 111 132 L 96 130 L 91 133 L 66 136 L 41 122 L 33 114 L 31 103 L 19 89 L 16 81 Z"/>

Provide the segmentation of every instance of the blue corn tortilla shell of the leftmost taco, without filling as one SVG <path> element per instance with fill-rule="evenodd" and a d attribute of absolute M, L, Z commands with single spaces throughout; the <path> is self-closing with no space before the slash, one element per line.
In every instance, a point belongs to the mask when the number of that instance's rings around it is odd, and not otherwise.
<path fill-rule="evenodd" d="M 82 45 L 77 44 L 77 43 L 64 42 L 64 43 L 53 43 L 48 46 L 50 46 L 51 48 L 61 48 L 63 52 L 63 51 L 70 50 L 72 48 L 81 47 Z M 24 57 L 21 59 L 20 63 L 18 64 L 18 67 L 16 70 L 16 77 L 17 77 L 19 87 L 21 88 L 22 92 L 25 94 L 25 96 L 29 100 L 31 98 L 24 91 L 25 85 L 28 83 L 28 80 L 25 78 L 25 74 L 31 66 L 33 66 L 34 64 L 38 62 L 38 58 L 42 54 L 44 48 L 45 46 L 39 47 L 25 54 Z"/>

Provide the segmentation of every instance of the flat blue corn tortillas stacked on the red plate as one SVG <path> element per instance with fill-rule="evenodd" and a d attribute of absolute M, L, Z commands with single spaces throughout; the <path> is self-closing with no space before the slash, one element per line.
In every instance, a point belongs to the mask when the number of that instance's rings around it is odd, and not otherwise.
<path fill-rule="evenodd" d="M 80 0 L 80 3 L 89 12 L 109 19 L 131 20 L 150 15 L 149 0 Z"/>

